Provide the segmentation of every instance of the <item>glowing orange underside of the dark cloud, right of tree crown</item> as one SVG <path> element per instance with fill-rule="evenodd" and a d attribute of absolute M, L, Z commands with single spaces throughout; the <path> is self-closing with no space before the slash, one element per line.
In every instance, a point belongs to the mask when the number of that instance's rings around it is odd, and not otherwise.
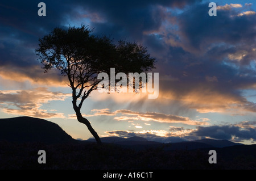
<path fill-rule="evenodd" d="M 218 112 L 243 115 L 246 112 L 256 112 L 255 103 L 249 102 L 239 94 L 217 90 L 214 83 L 217 82 L 213 81 L 205 85 L 199 83 L 197 87 L 189 87 L 187 90 L 182 89 L 183 85 L 178 85 L 179 88 L 175 89 L 166 87 L 165 91 L 163 89 L 160 91 L 158 100 L 166 104 L 171 100 L 176 100 L 184 107 L 195 109 L 200 113 Z"/>

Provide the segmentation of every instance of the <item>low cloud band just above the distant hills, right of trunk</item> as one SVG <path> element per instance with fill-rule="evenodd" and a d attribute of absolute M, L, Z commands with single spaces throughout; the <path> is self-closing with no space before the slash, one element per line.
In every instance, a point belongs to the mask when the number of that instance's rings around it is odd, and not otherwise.
<path fill-rule="evenodd" d="M 149 141 L 158 142 L 180 142 L 200 140 L 201 138 L 213 138 L 216 140 L 230 140 L 242 142 L 245 140 L 256 140 L 256 122 L 241 121 L 238 124 L 212 125 L 209 127 L 197 127 L 188 129 L 184 127 L 170 127 L 166 130 L 143 130 L 143 131 L 106 131 L 104 136 L 118 136 L 129 138 L 133 136 L 144 137 Z"/>

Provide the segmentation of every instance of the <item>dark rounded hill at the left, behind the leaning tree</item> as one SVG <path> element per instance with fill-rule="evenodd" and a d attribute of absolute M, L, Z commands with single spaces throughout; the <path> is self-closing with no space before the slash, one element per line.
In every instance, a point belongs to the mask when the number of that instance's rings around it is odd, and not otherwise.
<path fill-rule="evenodd" d="M 0 140 L 55 144 L 73 141 L 59 125 L 34 117 L 0 119 Z"/>

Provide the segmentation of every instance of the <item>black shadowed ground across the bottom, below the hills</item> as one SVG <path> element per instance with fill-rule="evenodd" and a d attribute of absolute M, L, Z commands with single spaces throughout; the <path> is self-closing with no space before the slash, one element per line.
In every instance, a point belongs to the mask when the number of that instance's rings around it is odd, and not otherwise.
<path fill-rule="evenodd" d="M 39 150 L 46 151 L 46 163 L 39 164 Z M 13 144 L 0 141 L 0 169 L 61 170 L 252 170 L 256 169 L 256 145 L 216 148 L 217 163 L 210 164 L 209 149 L 165 151 L 133 150 L 118 145 L 94 143 L 52 144 L 39 142 Z"/>

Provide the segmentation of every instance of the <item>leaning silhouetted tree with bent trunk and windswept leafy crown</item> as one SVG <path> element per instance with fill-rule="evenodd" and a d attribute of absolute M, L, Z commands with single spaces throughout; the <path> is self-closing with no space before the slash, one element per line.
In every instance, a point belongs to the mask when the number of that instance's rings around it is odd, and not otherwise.
<path fill-rule="evenodd" d="M 84 123 L 101 144 L 90 122 L 81 114 L 82 103 L 102 81 L 97 75 L 102 72 L 109 75 L 110 68 L 126 75 L 147 72 L 154 68 L 155 58 L 151 58 L 142 45 L 122 40 L 115 45 L 109 37 L 93 35 L 92 30 L 84 25 L 55 28 L 39 42 L 36 52 L 45 72 L 56 68 L 68 77 L 77 120 Z"/>

